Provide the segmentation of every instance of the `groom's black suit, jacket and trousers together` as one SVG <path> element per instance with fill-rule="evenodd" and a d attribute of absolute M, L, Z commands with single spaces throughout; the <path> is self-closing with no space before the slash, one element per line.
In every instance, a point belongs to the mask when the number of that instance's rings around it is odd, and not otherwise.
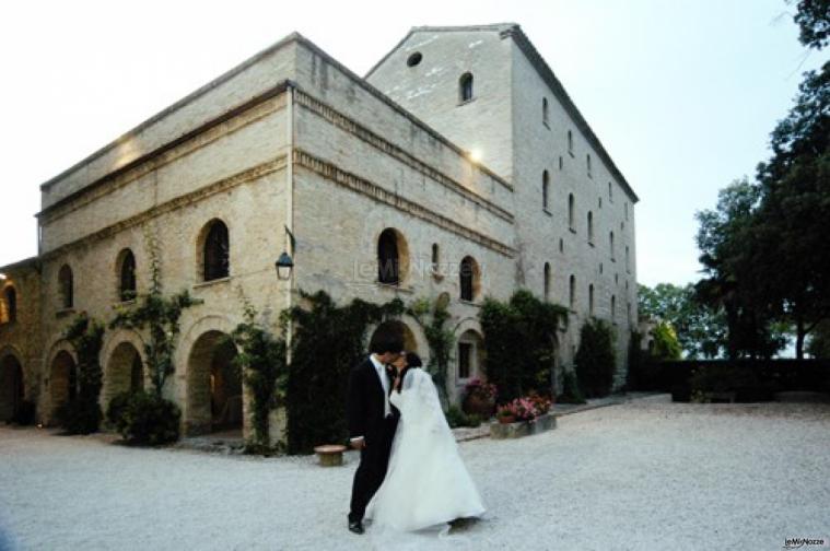
<path fill-rule="evenodd" d="M 389 388 L 394 377 L 389 374 Z M 347 415 L 349 418 L 349 436 L 363 436 L 365 447 L 360 452 L 360 465 L 354 473 L 352 485 L 350 521 L 363 519 L 366 505 L 372 500 L 389 465 L 389 453 L 400 412 L 390 406 L 391 413 L 385 417 L 384 387 L 377 371 L 370 359 L 358 364 L 349 376 L 347 392 Z"/>

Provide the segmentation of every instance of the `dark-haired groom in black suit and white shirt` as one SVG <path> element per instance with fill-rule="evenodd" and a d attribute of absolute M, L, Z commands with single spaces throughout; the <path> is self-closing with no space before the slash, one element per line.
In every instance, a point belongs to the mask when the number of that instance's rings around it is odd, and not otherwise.
<path fill-rule="evenodd" d="M 389 465 L 391 441 L 400 412 L 389 403 L 394 374 L 389 365 L 404 349 L 404 339 L 395 335 L 379 336 L 370 344 L 372 354 L 358 364 L 349 376 L 346 411 L 349 418 L 351 446 L 360 450 L 360 465 L 354 473 L 349 530 L 363 534 L 363 515 Z"/>

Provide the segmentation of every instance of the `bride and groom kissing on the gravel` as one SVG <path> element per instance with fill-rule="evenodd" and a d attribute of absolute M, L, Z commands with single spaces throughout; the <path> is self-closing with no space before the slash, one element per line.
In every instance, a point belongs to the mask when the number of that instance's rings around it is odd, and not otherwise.
<path fill-rule="evenodd" d="M 396 335 L 376 336 L 349 377 L 351 446 L 360 450 L 349 530 L 363 519 L 414 531 L 484 513 L 432 377 Z"/>

